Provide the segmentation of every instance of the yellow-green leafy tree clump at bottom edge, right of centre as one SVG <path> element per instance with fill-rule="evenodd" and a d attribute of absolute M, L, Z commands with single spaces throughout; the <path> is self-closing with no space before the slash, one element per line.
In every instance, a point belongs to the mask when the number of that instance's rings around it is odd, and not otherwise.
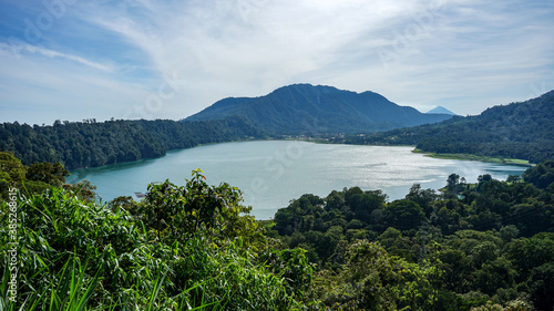
<path fill-rule="evenodd" d="M 435 266 L 409 263 L 389 256 L 376 242 L 358 240 L 345 252 L 346 263 L 336 276 L 316 276 L 312 294 L 332 310 L 420 310 L 435 302 Z"/>

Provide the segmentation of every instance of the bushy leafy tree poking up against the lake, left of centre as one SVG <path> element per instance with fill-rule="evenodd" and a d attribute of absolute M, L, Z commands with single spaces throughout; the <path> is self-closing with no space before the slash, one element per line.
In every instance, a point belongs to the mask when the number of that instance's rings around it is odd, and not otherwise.
<path fill-rule="evenodd" d="M 240 205 L 242 191 L 228 184 L 211 186 L 201 169 L 185 186 L 168 180 L 150 184 L 137 217 L 158 239 L 183 241 L 197 234 L 213 241 L 243 237 L 245 246 L 263 240 L 249 207 Z"/>

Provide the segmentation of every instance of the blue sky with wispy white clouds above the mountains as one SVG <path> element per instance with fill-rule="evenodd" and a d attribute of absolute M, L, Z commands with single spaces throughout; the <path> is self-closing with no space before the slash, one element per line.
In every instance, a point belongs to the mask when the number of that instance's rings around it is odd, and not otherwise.
<path fill-rule="evenodd" d="M 179 120 L 293 83 L 479 114 L 554 89 L 553 31 L 552 0 L 0 0 L 0 122 Z"/>

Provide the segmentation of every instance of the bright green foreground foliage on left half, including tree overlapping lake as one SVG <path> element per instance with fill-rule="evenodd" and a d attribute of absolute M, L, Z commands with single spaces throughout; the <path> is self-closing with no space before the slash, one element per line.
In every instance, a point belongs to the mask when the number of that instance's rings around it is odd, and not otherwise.
<path fill-rule="evenodd" d="M 196 170 L 185 187 L 152 186 L 148 196 L 145 203 L 121 199 L 110 208 L 61 188 L 19 196 L 18 302 L 7 300 L 4 259 L 11 247 L 2 226 L 2 310 L 306 308 L 300 301 L 311 266 L 304 251 L 281 251 L 279 266 L 268 266 L 261 258 L 274 252 L 253 219 L 239 215 L 248 208 L 237 206 L 237 189 L 208 186 Z M 140 212 L 153 203 L 165 212 L 160 219 L 186 226 L 164 227 L 158 235 L 155 222 Z M 8 224 L 8 204 L 0 208 L 0 222 Z M 165 235 L 172 229 L 173 236 Z"/>

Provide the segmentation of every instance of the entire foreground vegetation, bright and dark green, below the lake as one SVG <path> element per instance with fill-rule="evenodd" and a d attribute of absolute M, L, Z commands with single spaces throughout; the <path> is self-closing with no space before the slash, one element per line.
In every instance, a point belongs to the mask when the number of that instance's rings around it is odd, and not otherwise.
<path fill-rule="evenodd" d="M 554 305 L 554 162 L 506 182 L 451 174 L 403 199 L 306 194 L 256 221 L 199 169 L 135 201 L 94 201 L 52 163 L 0 153 L 4 310 L 500 310 Z M 29 185 L 39 185 L 29 187 Z M 92 196 L 91 196 L 92 195 Z M 11 266 L 10 266 L 11 265 Z M 23 305 L 24 303 L 24 305 Z M 86 308 L 86 309 L 85 309 Z"/>

